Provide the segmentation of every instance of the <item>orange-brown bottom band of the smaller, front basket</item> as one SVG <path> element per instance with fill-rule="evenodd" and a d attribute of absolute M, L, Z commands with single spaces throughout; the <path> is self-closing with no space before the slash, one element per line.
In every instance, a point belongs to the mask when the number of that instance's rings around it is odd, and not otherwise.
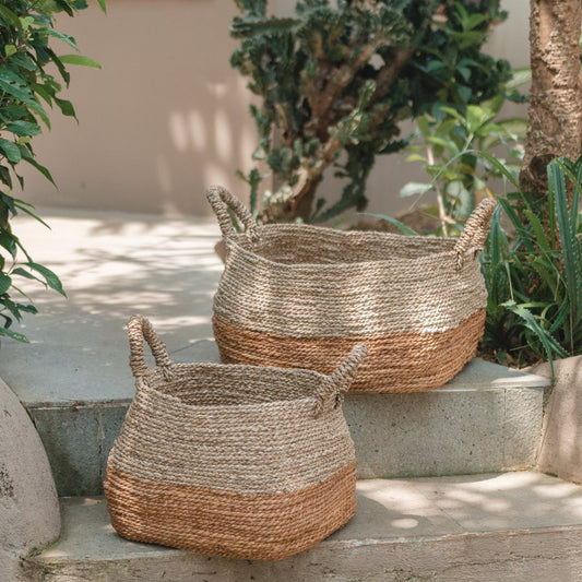
<path fill-rule="evenodd" d="M 114 528 L 134 542 L 211 556 L 281 560 L 308 549 L 356 512 L 356 462 L 292 494 L 249 495 L 159 483 L 109 464 Z"/>

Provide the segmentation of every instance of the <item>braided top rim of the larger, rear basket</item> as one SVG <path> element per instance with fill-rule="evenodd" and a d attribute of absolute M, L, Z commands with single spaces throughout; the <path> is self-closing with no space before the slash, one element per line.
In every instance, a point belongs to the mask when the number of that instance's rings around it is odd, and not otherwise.
<path fill-rule="evenodd" d="M 276 265 L 277 268 L 282 268 L 282 269 L 286 269 L 286 270 L 294 270 L 294 269 L 317 269 L 318 271 L 319 270 L 324 270 L 324 271 L 329 271 L 329 270 L 336 270 L 338 266 L 345 266 L 345 268 L 354 268 L 354 265 L 363 265 L 363 266 L 366 266 L 366 265 L 379 265 L 379 264 L 390 264 L 390 265 L 393 265 L 395 262 L 402 262 L 402 263 L 407 263 L 407 264 L 411 264 L 411 263 L 423 263 L 423 262 L 433 262 L 435 260 L 439 260 L 439 259 L 450 259 L 451 263 L 454 265 L 456 264 L 456 258 L 459 256 L 462 256 L 462 257 L 472 257 L 474 256 L 474 252 L 475 252 L 475 248 L 473 247 L 470 247 L 467 250 L 465 250 L 464 252 L 461 252 L 459 253 L 458 251 L 454 250 L 454 244 L 456 244 L 456 241 L 459 239 L 456 238 L 453 238 L 453 237 L 426 237 L 426 236 L 423 236 L 423 235 L 415 235 L 415 236 L 406 236 L 406 235 L 397 235 L 397 234 L 393 234 L 393 233 L 381 233 L 381 231 L 367 231 L 367 230 L 363 230 L 363 231 L 359 231 L 359 230 L 338 230 L 338 229 L 335 229 L 335 228 L 330 228 L 330 227 L 325 227 L 325 226 L 314 226 L 314 225 L 309 225 L 309 224 L 300 224 L 300 225 L 296 225 L 296 224 L 266 224 L 266 225 L 261 225 L 260 226 L 260 229 L 259 229 L 259 233 L 265 233 L 266 236 L 269 237 L 275 237 L 276 236 L 276 230 L 277 229 L 281 229 L 281 228 L 284 228 L 285 230 L 311 230 L 311 231 L 314 231 L 314 233 L 318 233 L 319 235 L 321 235 L 323 238 L 325 238 L 325 233 L 334 233 L 334 236 L 338 236 L 338 237 L 344 237 L 344 238 L 352 238 L 352 237 L 355 237 L 355 236 L 367 236 L 369 237 L 370 239 L 372 238 L 372 236 L 376 238 L 385 238 L 385 239 L 394 239 L 394 240 L 414 240 L 414 241 L 417 241 L 417 242 L 424 242 L 426 241 L 427 239 L 431 240 L 431 241 L 435 241 L 436 242 L 436 246 L 437 247 L 448 247 L 450 246 L 449 249 L 444 248 L 443 250 L 437 250 L 436 252 L 429 252 L 429 253 L 425 253 L 425 254 L 421 254 L 421 256 L 418 256 L 418 257 L 414 257 L 414 258 L 396 258 L 394 259 L 394 257 L 389 257 L 387 259 L 377 259 L 377 260 L 367 260 L 367 261 L 334 261 L 334 262 L 322 262 L 322 263 L 316 263 L 316 262 L 296 262 L 296 263 L 284 263 L 284 262 L 281 262 L 281 261 L 273 261 L 272 259 L 268 259 L 266 257 L 253 251 L 253 250 L 250 250 L 246 247 L 244 247 L 242 245 L 239 244 L 240 240 L 245 240 L 246 238 L 246 234 L 245 233 L 238 233 L 234 236 L 230 236 L 230 237 L 225 237 L 224 240 L 225 240 L 225 244 L 226 246 L 234 246 L 236 247 L 241 253 L 244 254 L 248 254 L 248 256 L 251 256 L 253 257 L 256 260 L 260 260 L 261 262 L 263 262 L 264 264 L 270 264 L 270 265 Z M 372 234 L 372 236 L 370 236 L 370 234 Z M 435 242 L 431 242 L 431 244 L 435 244 Z"/>

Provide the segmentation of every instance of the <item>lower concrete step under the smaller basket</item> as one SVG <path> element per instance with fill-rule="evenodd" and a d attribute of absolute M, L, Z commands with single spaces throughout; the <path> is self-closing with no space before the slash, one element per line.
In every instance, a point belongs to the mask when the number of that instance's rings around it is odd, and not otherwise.
<path fill-rule="evenodd" d="M 128 542 L 102 497 L 62 499 L 61 539 L 24 571 L 44 582 L 582 580 L 582 486 L 512 472 L 360 480 L 357 490 L 346 526 L 278 562 Z"/>

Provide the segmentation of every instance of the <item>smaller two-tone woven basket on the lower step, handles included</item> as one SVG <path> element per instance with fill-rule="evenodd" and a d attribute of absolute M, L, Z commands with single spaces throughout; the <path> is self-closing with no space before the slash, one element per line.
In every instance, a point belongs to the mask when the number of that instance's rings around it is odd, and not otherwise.
<path fill-rule="evenodd" d="M 120 535 L 275 560 L 316 545 L 352 518 L 356 461 L 341 403 L 364 345 L 323 376 L 173 364 L 145 318 L 130 319 L 128 330 L 136 394 L 104 484 Z"/>

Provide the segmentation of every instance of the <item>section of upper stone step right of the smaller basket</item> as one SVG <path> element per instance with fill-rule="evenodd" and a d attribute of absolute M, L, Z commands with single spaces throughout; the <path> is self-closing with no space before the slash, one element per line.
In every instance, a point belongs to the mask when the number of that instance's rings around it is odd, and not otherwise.
<path fill-rule="evenodd" d="M 546 378 L 472 360 L 442 388 L 348 394 L 358 476 L 424 477 L 534 466 Z"/>

